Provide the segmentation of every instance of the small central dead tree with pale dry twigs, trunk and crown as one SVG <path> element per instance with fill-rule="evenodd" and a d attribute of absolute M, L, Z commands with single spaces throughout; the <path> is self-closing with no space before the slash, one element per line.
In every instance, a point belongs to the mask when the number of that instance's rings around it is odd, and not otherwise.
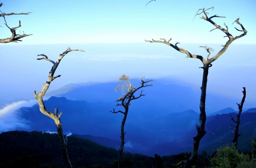
<path fill-rule="evenodd" d="M 151 82 L 151 81 L 152 80 L 144 81 L 143 78 L 141 78 L 140 87 L 135 88 L 134 86 L 132 86 L 128 76 L 122 75 L 119 78 L 119 84 L 120 84 L 120 82 L 124 82 L 124 84 L 118 85 L 116 87 L 116 92 L 118 90 L 121 90 L 121 92 L 122 92 L 121 97 L 116 101 L 116 102 L 120 102 L 120 103 L 117 103 L 116 106 L 123 106 L 125 111 L 124 112 L 121 110 L 115 111 L 115 109 L 113 109 L 113 111 L 111 111 L 112 113 L 122 113 L 124 115 L 124 117 L 122 119 L 122 123 L 121 123 L 121 136 L 120 136 L 121 144 L 120 144 L 119 153 L 118 153 L 118 168 L 123 168 L 122 154 L 123 154 L 123 150 L 124 150 L 124 146 L 125 146 L 125 133 L 126 133 L 124 131 L 124 129 L 125 129 L 125 121 L 126 121 L 126 118 L 128 115 L 128 109 L 130 106 L 130 102 L 133 100 L 136 100 L 142 96 L 145 96 L 143 94 L 143 90 L 140 90 L 140 89 L 142 89 L 143 87 L 153 86 L 152 84 L 148 84 L 148 82 Z M 134 94 L 138 90 L 140 90 L 140 95 L 136 97 Z"/>

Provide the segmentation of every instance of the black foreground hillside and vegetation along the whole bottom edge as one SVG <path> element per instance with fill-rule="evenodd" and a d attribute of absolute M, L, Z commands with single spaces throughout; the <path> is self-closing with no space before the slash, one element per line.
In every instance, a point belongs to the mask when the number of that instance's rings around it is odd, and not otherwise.
<path fill-rule="evenodd" d="M 118 151 L 90 140 L 69 136 L 68 152 L 74 168 L 117 168 Z M 225 157 L 222 156 L 223 154 Z M 125 168 L 177 168 L 182 166 L 182 161 L 189 156 L 190 153 L 181 153 L 156 159 L 143 154 L 124 153 L 124 166 Z M 239 165 L 239 161 L 242 164 L 253 165 L 255 158 L 252 160 L 251 156 L 252 151 L 247 155 L 239 154 L 236 150 L 226 147 L 212 156 L 202 152 L 198 156 L 196 167 L 212 167 L 210 160 L 213 158 L 215 159 L 212 161 L 217 167 L 224 164 Z M 239 163 L 230 161 L 229 157 L 236 157 Z M 0 134 L 1 168 L 64 168 L 63 163 L 57 134 L 35 131 L 12 131 Z"/>

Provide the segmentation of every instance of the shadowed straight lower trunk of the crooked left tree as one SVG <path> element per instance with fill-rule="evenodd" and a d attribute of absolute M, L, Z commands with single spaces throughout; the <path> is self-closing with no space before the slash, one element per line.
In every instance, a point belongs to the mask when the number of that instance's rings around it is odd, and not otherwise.
<path fill-rule="evenodd" d="M 67 136 L 63 135 L 61 120 L 58 120 L 58 122 L 57 123 L 55 122 L 55 124 L 56 124 L 56 127 L 57 127 L 58 136 L 60 138 L 61 152 L 62 152 L 62 155 L 63 155 L 63 158 L 64 158 L 65 165 L 66 165 L 67 168 L 72 168 L 70 159 L 69 159 L 68 154 L 67 154 Z"/>

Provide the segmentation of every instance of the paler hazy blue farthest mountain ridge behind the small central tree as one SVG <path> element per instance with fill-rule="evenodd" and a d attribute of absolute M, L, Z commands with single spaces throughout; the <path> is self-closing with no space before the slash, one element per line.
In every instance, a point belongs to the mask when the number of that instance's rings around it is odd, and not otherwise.
<path fill-rule="evenodd" d="M 140 85 L 140 80 L 131 79 L 131 83 L 137 87 Z M 161 79 L 152 81 L 151 84 L 154 86 L 145 88 L 146 96 L 133 101 L 131 108 L 148 117 L 165 116 L 172 112 L 182 112 L 189 109 L 199 112 L 201 94 L 199 86 L 198 88 L 191 88 L 186 83 L 181 85 L 172 81 L 168 83 L 161 81 Z M 87 102 L 113 103 L 121 94 L 115 92 L 117 84 L 117 81 L 68 84 L 58 90 L 49 92 L 47 96 L 65 97 L 69 100 L 85 100 Z M 236 106 L 236 100 L 207 92 L 206 104 L 207 114 L 210 114 L 226 107 Z"/>

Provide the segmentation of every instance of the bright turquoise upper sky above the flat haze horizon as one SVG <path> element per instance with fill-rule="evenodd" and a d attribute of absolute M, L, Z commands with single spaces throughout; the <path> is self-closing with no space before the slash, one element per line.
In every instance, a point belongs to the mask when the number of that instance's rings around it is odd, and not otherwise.
<path fill-rule="evenodd" d="M 223 33 L 196 17 L 198 8 L 214 6 L 209 15 L 231 25 L 240 17 L 248 35 L 236 44 L 256 44 L 255 0 L 157 0 L 145 7 L 148 0 L 2 0 L 2 11 L 33 12 L 29 16 L 6 17 L 9 25 L 21 20 L 21 31 L 30 36 L 21 44 L 57 43 L 134 43 L 143 39 L 170 38 L 181 43 L 223 43 Z M 3 24 L 2 24 L 3 25 Z M 239 26 L 235 25 L 239 28 Z M 9 30 L 1 28 L 0 36 Z"/>

